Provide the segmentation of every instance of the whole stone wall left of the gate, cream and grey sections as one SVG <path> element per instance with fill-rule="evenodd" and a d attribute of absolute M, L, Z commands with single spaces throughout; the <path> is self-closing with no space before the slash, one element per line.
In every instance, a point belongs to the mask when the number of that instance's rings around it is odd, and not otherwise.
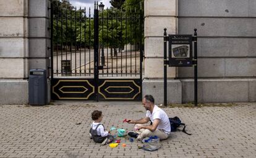
<path fill-rule="evenodd" d="M 28 72 L 48 69 L 48 0 L 0 1 L 0 104 L 28 104 Z"/>

